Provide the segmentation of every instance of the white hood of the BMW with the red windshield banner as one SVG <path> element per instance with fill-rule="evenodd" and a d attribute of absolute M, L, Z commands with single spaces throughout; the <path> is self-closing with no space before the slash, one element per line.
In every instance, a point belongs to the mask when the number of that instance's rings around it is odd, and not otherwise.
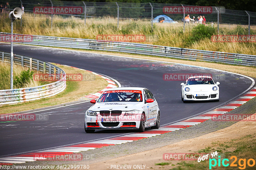
<path fill-rule="evenodd" d="M 95 103 L 88 110 L 100 111 L 100 110 L 142 110 L 144 102 L 100 102 Z"/>

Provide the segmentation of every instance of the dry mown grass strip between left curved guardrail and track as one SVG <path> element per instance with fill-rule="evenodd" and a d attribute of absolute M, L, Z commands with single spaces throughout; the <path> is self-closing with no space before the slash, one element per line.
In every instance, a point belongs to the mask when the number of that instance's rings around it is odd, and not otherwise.
<path fill-rule="evenodd" d="M 102 79 L 100 76 L 95 76 L 88 71 L 80 70 L 73 67 L 66 67 L 60 64 L 53 64 L 63 69 L 66 74 L 80 73 L 83 74 L 83 77 L 87 75 L 87 77 L 90 77 L 90 79 L 83 79 L 83 81 L 67 81 L 66 89 L 63 92 L 52 97 L 47 97 L 25 103 L 19 103 L 15 105 L 3 105 L 0 107 L 0 114 L 39 109 L 57 104 L 77 101 L 86 95 L 104 89 L 108 85 L 108 82 L 106 80 Z"/>

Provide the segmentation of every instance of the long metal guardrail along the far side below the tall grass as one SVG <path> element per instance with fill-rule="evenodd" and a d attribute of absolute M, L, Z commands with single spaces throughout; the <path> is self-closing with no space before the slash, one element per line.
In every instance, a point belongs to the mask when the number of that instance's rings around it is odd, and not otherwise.
<path fill-rule="evenodd" d="M 221 62 L 245 66 L 256 66 L 256 56 L 236 53 L 224 53 L 169 46 L 156 46 L 140 43 L 111 42 L 94 39 L 50 37 L 40 35 L 14 34 L 14 42 L 28 45 L 103 50 L 124 53 L 164 56 L 187 60 Z M 10 42 L 10 33 L 0 32 L 2 42 Z"/>

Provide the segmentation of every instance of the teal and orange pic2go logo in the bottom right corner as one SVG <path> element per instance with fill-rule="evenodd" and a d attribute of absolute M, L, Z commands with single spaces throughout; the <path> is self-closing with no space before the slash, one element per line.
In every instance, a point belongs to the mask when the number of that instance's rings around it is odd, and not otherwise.
<path fill-rule="evenodd" d="M 237 161 L 237 157 L 236 156 L 231 156 L 230 159 L 234 159 L 234 161 L 229 165 L 229 159 L 222 159 L 222 161 L 220 160 L 220 156 L 218 156 L 219 159 L 218 161 L 213 158 L 213 159 L 209 159 L 209 169 L 212 169 L 212 167 L 215 167 L 217 166 L 217 163 L 218 163 L 218 166 L 233 166 L 233 167 L 237 167 L 237 164 L 236 164 L 236 161 Z M 246 168 L 246 164 L 250 167 L 254 166 L 255 165 L 255 160 L 254 159 L 248 159 L 247 162 L 246 162 L 246 159 L 239 159 L 238 160 L 238 168 L 239 169 L 245 169 Z"/>

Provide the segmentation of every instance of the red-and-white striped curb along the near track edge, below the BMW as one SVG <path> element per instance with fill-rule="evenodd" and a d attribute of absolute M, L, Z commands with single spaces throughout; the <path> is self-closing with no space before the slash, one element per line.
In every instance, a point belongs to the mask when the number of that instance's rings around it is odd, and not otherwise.
<path fill-rule="evenodd" d="M 101 148 L 101 147 L 110 146 L 110 145 L 123 144 L 127 142 L 132 142 L 132 141 L 136 141 L 144 138 L 150 138 L 156 135 L 161 135 L 164 133 L 169 133 L 172 131 L 184 129 L 184 128 L 205 122 L 209 119 L 212 119 L 213 117 L 228 113 L 229 111 L 234 110 L 239 106 L 243 105 L 244 103 L 248 102 L 255 96 L 256 96 L 256 87 L 254 87 L 252 90 L 248 91 L 244 95 L 240 96 L 238 99 L 231 101 L 223 106 L 220 106 L 219 108 L 216 108 L 214 110 L 208 111 L 201 115 L 198 115 L 174 124 L 169 124 L 169 125 L 160 127 L 159 129 L 148 130 L 140 133 L 133 133 L 133 134 L 124 135 L 120 137 L 108 138 L 108 139 L 87 142 L 87 143 L 77 144 L 77 145 L 71 145 L 71 146 L 65 146 L 65 147 L 60 147 L 55 149 L 49 149 L 49 150 L 44 150 L 39 152 L 31 152 L 31 153 L 25 153 L 25 154 L 20 154 L 15 156 L 3 157 L 3 158 L 0 158 L 0 165 L 12 165 L 15 163 L 25 163 L 25 162 L 36 161 L 36 155 L 37 157 L 38 155 L 40 155 L 42 157 L 41 159 L 52 158 L 57 155 L 72 154 L 72 153 L 87 151 L 87 150 Z"/>

